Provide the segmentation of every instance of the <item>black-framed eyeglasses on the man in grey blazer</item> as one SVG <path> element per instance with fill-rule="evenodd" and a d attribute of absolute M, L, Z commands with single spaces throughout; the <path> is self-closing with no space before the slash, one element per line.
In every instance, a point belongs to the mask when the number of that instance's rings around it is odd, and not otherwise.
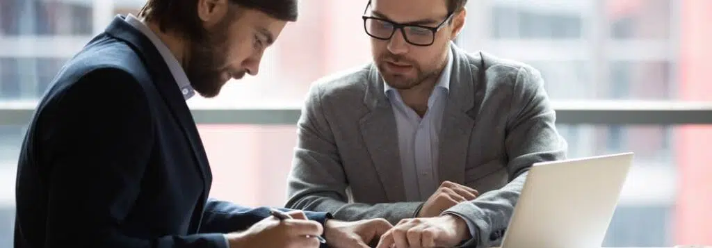
<path fill-rule="evenodd" d="M 368 11 L 369 6 L 371 6 L 371 1 L 368 1 L 366 9 L 363 11 L 364 16 L 362 16 L 363 27 L 369 36 L 387 41 L 393 37 L 397 30 L 400 30 L 407 43 L 420 46 L 432 45 L 435 42 L 435 33 L 437 33 L 440 28 L 442 28 L 444 24 L 450 20 L 454 13 L 454 11 L 448 13 L 445 20 L 433 28 L 428 26 L 394 23 L 393 21 L 389 21 L 384 18 L 366 16 L 366 11 Z"/>

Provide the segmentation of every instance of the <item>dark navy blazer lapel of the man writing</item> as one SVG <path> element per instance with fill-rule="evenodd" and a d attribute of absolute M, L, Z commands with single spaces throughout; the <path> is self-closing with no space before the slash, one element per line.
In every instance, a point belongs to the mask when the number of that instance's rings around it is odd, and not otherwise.
<path fill-rule="evenodd" d="M 208 160 L 192 114 L 188 109 L 185 99 L 182 97 L 177 82 L 168 69 L 168 65 L 166 65 L 153 43 L 151 43 L 143 33 L 136 30 L 129 23 L 126 23 L 123 16 L 114 18 L 106 29 L 106 33 L 126 41 L 144 60 L 155 87 L 163 97 L 164 102 L 168 105 L 168 109 L 170 109 L 173 117 L 178 120 L 179 126 L 183 129 L 183 134 L 191 146 L 194 153 L 195 164 L 198 166 L 200 176 L 206 185 L 204 190 L 209 190 L 211 176 L 209 173 Z"/>

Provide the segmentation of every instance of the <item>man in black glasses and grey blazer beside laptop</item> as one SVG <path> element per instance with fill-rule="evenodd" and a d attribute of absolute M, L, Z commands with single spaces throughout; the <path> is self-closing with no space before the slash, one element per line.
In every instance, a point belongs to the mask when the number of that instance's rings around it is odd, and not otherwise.
<path fill-rule="evenodd" d="M 316 82 L 288 207 L 398 224 L 382 246 L 501 242 L 528 168 L 565 158 L 540 73 L 451 41 L 466 0 L 372 0 L 373 63 Z"/>

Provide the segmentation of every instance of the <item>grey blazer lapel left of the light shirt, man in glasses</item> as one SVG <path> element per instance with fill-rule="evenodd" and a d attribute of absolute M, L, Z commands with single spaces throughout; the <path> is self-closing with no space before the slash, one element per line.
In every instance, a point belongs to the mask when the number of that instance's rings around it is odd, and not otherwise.
<path fill-rule="evenodd" d="M 360 119 L 362 138 L 389 202 L 403 202 L 406 198 L 396 121 L 383 92 L 382 78 L 373 66 L 370 68 L 364 103 L 370 112 Z"/>

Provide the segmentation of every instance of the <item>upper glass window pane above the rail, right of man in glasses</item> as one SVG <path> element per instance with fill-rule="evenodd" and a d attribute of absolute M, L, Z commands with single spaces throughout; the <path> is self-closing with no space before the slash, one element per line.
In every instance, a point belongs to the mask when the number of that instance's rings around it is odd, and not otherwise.
<path fill-rule="evenodd" d="M 458 44 L 541 70 L 554 100 L 711 101 L 708 23 L 672 0 L 469 1 Z M 680 12 L 680 13 L 676 13 Z M 474 17 L 472 17 L 474 16 Z M 479 16 L 486 16 L 480 18 Z M 576 27 L 576 28 L 574 28 Z M 684 54 L 684 55 L 681 55 Z M 703 55 L 704 54 L 704 55 Z"/>

